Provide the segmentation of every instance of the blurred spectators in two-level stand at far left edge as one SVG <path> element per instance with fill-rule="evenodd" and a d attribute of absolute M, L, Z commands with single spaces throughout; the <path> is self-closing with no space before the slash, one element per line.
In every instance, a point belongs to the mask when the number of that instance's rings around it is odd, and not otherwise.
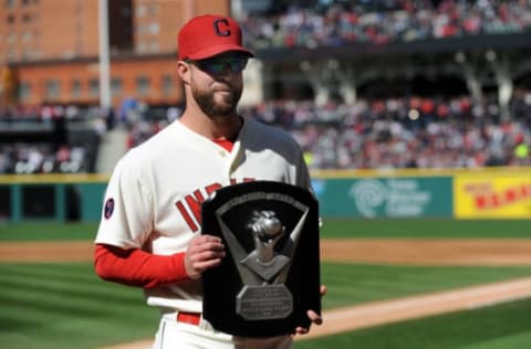
<path fill-rule="evenodd" d="M 39 106 L 0 110 L 0 133 L 3 135 L 0 173 L 93 171 L 91 150 L 97 145 L 86 145 L 80 139 L 69 141 L 69 123 L 82 124 L 82 128 L 96 135 L 103 135 L 107 128 L 97 107 Z"/>

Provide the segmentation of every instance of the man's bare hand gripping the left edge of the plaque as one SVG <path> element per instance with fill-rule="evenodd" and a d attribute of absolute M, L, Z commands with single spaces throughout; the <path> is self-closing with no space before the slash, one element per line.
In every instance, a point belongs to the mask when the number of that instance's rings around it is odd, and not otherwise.
<path fill-rule="evenodd" d="M 212 235 L 199 235 L 188 244 L 185 254 L 186 273 L 192 279 L 201 273 L 221 263 L 225 257 L 225 246 L 221 239 Z"/>

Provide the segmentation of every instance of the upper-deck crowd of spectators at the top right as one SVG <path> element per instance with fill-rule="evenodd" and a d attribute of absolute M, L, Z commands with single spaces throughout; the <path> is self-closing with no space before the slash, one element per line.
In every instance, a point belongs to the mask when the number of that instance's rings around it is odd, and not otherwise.
<path fill-rule="evenodd" d="M 293 4 L 281 13 L 243 18 L 241 22 L 247 44 L 254 50 L 293 46 L 315 49 L 348 43 L 382 44 L 521 33 L 531 29 L 529 0 L 323 2 L 326 4 Z"/>

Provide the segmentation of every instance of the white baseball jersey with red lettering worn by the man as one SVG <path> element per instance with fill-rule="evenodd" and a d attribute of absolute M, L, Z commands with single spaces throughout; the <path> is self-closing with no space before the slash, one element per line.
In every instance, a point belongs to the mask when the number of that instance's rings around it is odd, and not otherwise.
<path fill-rule="evenodd" d="M 273 180 L 310 189 L 287 133 L 244 119 L 231 152 L 176 120 L 116 165 L 95 242 L 157 255 L 185 252 L 200 234 L 200 204 L 225 186 Z M 202 310 L 200 282 L 145 290 L 152 306 Z"/>

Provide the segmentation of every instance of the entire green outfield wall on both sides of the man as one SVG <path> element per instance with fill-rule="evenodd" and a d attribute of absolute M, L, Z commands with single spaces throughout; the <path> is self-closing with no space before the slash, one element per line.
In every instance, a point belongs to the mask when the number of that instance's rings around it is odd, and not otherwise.
<path fill-rule="evenodd" d="M 108 176 L 0 176 L 0 220 L 100 220 Z M 322 216 L 531 219 L 531 168 L 312 172 Z"/>

